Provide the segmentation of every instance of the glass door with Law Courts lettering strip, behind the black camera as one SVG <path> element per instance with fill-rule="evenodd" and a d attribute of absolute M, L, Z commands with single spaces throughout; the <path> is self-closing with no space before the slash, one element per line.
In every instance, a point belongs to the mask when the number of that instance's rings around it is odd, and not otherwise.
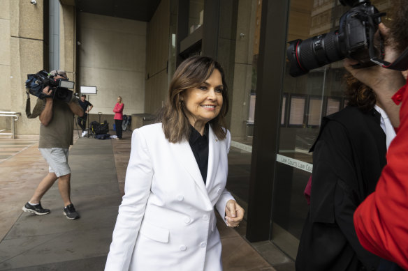
<path fill-rule="evenodd" d="M 391 1 L 372 1 L 387 11 Z M 349 7 L 337 0 L 291 0 L 287 41 L 306 40 L 335 31 Z M 345 70 L 342 61 L 307 75 L 291 77 L 286 61 L 281 100 L 279 151 L 272 199 L 272 242 L 296 258 L 300 234 L 309 210 L 303 192 L 312 174 L 309 149 L 314 144 L 321 118 L 344 108 Z"/>

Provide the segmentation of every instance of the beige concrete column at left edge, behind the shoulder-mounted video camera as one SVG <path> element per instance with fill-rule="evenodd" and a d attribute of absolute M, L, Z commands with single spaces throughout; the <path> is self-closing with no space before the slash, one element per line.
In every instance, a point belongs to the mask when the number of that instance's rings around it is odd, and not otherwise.
<path fill-rule="evenodd" d="M 43 70 L 45 66 L 47 44 L 44 30 L 48 29 L 48 26 L 45 27 L 48 1 L 37 0 L 37 4 L 33 5 L 30 1 L 3 0 L 0 6 L 0 16 L 4 18 L 0 20 L 0 52 L 6 56 L 0 58 L 4 64 L 0 65 L 1 97 L 6 98 L 6 102 L 1 99 L 1 107 L 22 113 L 16 123 L 17 134 L 38 134 L 38 118 L 29 120 L 25 116 L 27 95 L 24 83 L 27 74 Z M 35 102 L 36 98 L 31 96 L 31 107 L 34 107 Z"/>

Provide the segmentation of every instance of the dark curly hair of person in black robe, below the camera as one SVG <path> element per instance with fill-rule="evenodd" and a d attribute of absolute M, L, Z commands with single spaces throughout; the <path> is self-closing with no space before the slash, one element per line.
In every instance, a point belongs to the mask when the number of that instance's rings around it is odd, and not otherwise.
<path fill-rule="evenodd" d="M 373 109 L 377 102 L 377 95 L 375 95 L 374 91 L 369 86 L 358 81 L 349 72 L 344 77 L 347 82 L 346 98 L 349 100 L 348 105 L 358 107 L 358 109 L 365 113 Z"/>

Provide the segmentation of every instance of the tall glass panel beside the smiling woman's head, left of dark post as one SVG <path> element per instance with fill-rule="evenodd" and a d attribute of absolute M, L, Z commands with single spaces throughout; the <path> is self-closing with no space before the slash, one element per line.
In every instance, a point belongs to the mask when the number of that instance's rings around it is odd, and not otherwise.
<path fill-rule="evenodd" d="M 226 188 L 240 205 L 247 210 L 249 179 L 251 173 L 252 139 L 256 102 L 256 79 L 259 56 L 259 32 L 261 27 L 262 1 L 239 1 L 236 26 L 221 25 L 220 32 L 236 39 L 232 75 L 228 85 L 230 92 L 231 148 L 228 153 L 228 180 Z M 222 9 L 221 9 L 222 11 Z M 237 29 L 237 33 L 229 33 Z M 225 47 L 225 39 L 219 40 Z M 229 42 L 229 41 L 228 41 Z M 219 56 L 223 59 L 223 56 Z M 241 226 L 245 231 L 245 222 Z"/>

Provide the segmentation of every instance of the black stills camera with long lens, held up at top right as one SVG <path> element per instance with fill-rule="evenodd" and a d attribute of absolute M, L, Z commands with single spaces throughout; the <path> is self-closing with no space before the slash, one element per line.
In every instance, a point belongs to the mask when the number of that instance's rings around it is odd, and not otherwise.
<path fill-rule="evenodd" d="M 376 60 L 382 59 L 382 41 L 380 48 L 375 48 L 374 33 L 385 13 L 379 13 L 370 1 L 340 0 L 340 3 L 351 9 L 340 17 L 338 30 L 289 42 L 287 55 L 291 76 L 305 75 L 309 70 L 346 57 L 358 61 L 356 68 L 376 65 Z"/>

